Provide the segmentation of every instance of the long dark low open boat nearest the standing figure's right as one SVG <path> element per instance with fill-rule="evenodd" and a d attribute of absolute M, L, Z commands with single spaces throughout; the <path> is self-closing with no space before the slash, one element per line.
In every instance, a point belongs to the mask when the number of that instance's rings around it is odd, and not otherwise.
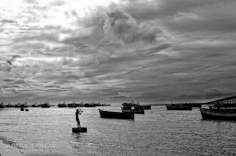
<path fill-rule="evenodd" d="M 111 112 L 99 109 L 101 118 L 134 119 L 134 112 Z"/>

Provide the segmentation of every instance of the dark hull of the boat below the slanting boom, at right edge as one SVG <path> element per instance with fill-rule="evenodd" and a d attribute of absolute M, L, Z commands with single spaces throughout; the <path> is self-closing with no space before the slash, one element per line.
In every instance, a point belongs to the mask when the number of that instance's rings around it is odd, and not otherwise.
<path fill-rule="evenodd" d="M 221 111 L 200 108 L 203 119 L 211 120 L 236 120 L 236 111 Z"/>

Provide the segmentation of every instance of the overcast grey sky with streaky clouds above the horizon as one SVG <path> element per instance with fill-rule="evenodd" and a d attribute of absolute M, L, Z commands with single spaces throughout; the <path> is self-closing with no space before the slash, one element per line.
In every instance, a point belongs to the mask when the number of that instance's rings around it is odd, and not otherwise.
<path fill-rule="evenodd" d="M 234 0 L 0 1 L 0 101 L 235 95 Z"/>

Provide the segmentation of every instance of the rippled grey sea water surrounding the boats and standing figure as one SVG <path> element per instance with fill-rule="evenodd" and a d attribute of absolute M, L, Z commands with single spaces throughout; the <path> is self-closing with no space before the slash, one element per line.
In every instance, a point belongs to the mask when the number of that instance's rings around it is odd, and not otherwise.
<path fill-rule="evenodd" d="M 0 140 L 25 155 L 236 155 L 236 122 L 202 120 L 198 108 L 153 106 L 135 120 L 102 119 L 98 108 L 82 109 L 81 124 L 88 132 L 81 134 L 71 132 L 75 109 L 3 109 Z M 120 111 L 120 106 L 102 109 Z"/>

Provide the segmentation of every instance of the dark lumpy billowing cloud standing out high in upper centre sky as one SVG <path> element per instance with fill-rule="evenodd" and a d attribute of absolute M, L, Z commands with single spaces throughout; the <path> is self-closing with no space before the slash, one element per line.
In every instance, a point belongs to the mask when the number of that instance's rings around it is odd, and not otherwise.
<path fill-rule="evenodd" d="M 154 24 L 137 21 L 121 9 L 108 13 L 103 27 L 106 37 L 123 44 L 137 41 L 156 42 L 163 32 Z"/>

